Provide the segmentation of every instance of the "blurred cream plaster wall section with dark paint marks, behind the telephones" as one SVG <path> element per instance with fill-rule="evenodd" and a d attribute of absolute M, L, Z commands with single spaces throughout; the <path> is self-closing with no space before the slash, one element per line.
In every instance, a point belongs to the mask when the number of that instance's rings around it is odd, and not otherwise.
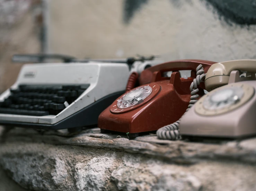
<path fill-rule="evenodd" d="M 48 0 L 47 50 L 79 58 L 256 59 L 253 3 Z"/>

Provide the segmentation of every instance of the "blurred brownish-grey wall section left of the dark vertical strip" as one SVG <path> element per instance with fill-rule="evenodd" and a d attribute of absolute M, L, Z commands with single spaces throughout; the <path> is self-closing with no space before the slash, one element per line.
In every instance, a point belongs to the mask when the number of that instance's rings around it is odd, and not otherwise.
<path fill-rule="evenodd" d="M 0 0 L 0 93 L 14 84 L 22 66 L 11 62 L 12 55 L 40 51 L 32 2 L 36 0 Z"/>

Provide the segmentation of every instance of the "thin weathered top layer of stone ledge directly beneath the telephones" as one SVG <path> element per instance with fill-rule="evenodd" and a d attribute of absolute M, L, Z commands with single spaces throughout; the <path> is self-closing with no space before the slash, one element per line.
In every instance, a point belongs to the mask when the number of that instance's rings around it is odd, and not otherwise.
<path fill-rule="evenodd" d="M 202 159 L 256 163 L 256 138 L 212 144 L 159 140 L 156 135 L 129 140 L 121 135 L 100 133 L 98 128 L 85 130 L 73 137 L 58 131 L 39 134 L 35 130 L 16 128 L 5 135 L 5 142 L 37 142 L 113 149 L 167 159 L 175 163 L 190 164 Z"/>

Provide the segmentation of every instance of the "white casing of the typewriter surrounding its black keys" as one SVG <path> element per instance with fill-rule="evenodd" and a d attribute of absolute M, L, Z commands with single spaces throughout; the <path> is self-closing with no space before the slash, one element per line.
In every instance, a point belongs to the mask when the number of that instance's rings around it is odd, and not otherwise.
<path fill-rule="evenodd" d="M 0 121 L 34 124 L 55 124 L 97 102 L 109 94 L 124 91 L 129 77 L 129 67 L 123 63 L 40 63 L 25 64 L 12 89 L 20 84 L 89 84 L 89 87 L 68 107 L 57 115 L 31 116 L 0 113 Z M 3 102 L 11 94 L 6 90 L 0 95 Z M 109 103 L 111 104 L 111 103 Z"/>

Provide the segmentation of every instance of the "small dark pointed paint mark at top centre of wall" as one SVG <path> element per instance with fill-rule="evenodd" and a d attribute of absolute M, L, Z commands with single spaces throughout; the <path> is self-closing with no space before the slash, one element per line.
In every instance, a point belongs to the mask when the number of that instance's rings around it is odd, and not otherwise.
<path fill-rule="evenodd" d="M 128 24 L 133 18 L 136 11 L 140 10 L 143 4 L 148 0 L 124 0 L 123 21 Z"/>

